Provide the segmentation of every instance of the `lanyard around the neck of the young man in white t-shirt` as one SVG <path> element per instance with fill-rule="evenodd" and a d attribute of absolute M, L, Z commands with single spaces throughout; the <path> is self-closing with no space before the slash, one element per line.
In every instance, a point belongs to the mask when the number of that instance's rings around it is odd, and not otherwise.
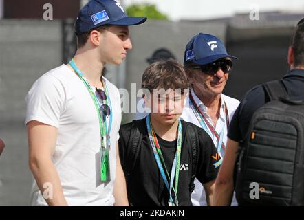
<path fill-rule="evenodd" d="M 76 63 L 75 63 L 74 59 L 72 59 L 72 61 L 69 61 L 69 65 L 71 65 L 71 67 L 74 69 L 74 71 L 76 72 L 76 74 L 78 75 L 80 80 L 83 81 L 83 84 L 85 84 L 85 87 L 87 87 L 87 91 L 89 91 L 89 94 L 90 94 L 90 96 L 91 96 L 91 98 L 94 102 L 94 105 L 96 107 L 96 111 L 98 113 L 101 147 L 105 148 L 105 147 L 109 146 L 109 132 L 107 131 L 107 120 L 103 120 L 102 115 L 101 115 L 98 98 L 96 98 L 96 95 L 94 94 L 94 91 L 91 88 L 91 85 L 89 85 L 87 80 L 85 80 L 85 78 L 83 78 L 83 72 L 81 72 L 80 69 L 76 66 Z M 104 86 L 104 89 L 105 89 L 105 94 L 107 96 L 107 100 L 109 99 L 109 107 L 111 109 L 111 101 L 110 101 L 110 97 L 109 97 L 108 92 L 107 92 L 106 83 L 103 83 L 103 86 Z M 106 102 L 106 104 L 107 104 L 107 102 Z M 111 115 L 110 115 L 109 130 L 111 130 L 111 121 L 112 121 L 111 118 L 112 118 L 112 112 L 111 112 Z M 105 137 L 107 139 L 107 144 L 105 144 L 105 142 L 104 142 Z"/>

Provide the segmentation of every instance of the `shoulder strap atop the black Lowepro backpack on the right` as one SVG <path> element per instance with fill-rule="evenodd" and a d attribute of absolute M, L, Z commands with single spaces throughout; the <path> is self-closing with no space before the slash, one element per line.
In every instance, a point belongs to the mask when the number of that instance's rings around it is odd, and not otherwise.
<path fill-rule="evenodd" d="M 278 100 L 280 97 L 287 97 L 287 91 L 282 80 L 274 80 L 263 84 L 263 87 L 270 100 Z"/>

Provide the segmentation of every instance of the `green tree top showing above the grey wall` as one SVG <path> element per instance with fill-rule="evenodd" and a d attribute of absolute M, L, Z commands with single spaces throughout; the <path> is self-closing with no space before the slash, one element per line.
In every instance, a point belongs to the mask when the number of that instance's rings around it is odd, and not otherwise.
<path fill-rule="evenodd" d="M 133 4 L 127 7 L 129 16 L 147 17 L 148 19 L 169 20 L 166 14 L 159 12 L 155 5 Z"/>

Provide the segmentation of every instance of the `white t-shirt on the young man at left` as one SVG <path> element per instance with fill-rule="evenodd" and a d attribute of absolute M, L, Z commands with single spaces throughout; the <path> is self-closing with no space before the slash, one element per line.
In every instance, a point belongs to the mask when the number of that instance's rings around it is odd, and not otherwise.
<path fill-rule="evenodd" d="M 121 123 L 120 94 L 104 78 L 111 98 L 110 175 L 100 181 L 100 126 L 94 102 L 84 83 L 66 65 L 43 74 L 26 96 L 26 123 L 36 120 L 58 129 L 52 162 L 61 180 L 69 206 L 113 206 L 116 177 L 116 142 Z M 109 117 L 107 118 L 109 124 Z M 47 206 L 36 185 L 32 186 L 32 206 Z"/>

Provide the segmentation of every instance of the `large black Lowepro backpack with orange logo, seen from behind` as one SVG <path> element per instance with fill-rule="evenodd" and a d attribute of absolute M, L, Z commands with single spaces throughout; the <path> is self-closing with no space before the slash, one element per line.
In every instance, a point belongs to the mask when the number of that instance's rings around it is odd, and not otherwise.
<path fill-rule="evenodd" d="M 304 206 L 304 102 L 290 100 L 281 80 L 263 87 L 270 102 L 254 112 L 239 147 L 237 202 Z"/>

